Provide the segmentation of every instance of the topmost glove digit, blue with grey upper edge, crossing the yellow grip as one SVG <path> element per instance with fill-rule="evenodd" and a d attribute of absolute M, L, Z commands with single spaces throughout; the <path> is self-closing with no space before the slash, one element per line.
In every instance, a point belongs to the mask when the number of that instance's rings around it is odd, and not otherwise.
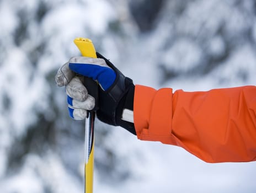
<path fill-rule="evenodd" d="M 115 71 L 102 58 L 73 57 L 70 69 L 98 81 L 103 90 L 110 88 L 116 78 Z"/>

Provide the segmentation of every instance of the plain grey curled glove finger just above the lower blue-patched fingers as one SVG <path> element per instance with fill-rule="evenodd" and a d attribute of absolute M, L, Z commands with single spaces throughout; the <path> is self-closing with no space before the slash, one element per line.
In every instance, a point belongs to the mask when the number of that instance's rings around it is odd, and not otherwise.
<path fill-rule="evenodd" d="M 88 97 L 88 91 L 78 76 L 72 78 L 70 83 L 66 85 L 66 93 L 68 96 L 78 101 L 84 101 Z"/>

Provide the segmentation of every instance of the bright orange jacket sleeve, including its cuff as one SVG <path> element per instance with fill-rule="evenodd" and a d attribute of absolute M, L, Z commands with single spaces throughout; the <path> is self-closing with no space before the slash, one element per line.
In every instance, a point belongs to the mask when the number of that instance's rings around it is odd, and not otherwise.
<path fill-rule="evenodd" d="M 180 146 L 205 162 L 256 160 L 256 87 L 184 92 L 136 85 L 140 140 Z"/>

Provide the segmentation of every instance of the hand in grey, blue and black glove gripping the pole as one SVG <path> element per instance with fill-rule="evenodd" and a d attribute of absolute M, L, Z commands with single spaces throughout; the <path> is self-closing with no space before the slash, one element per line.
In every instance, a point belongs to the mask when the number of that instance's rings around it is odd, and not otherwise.
<path fill-rule="evenodd" d="M 135 132 L 133 104 L 135 86 L 109 60 L 97 53 L 98 58 L 72 57 L 55 77 L 60 87 L 66 85 L 68 110 L 76 120 L 85 119 L 88 110 L 97 110 L 97 117 L 106 124 L 121 126 Z M 83 77 L 98 82 L 98 106 L 82 83 Z"/>

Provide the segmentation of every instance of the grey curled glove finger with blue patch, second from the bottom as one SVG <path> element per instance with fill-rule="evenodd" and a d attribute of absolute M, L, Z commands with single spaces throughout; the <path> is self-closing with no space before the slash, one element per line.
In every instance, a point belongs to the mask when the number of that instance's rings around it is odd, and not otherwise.
<path fill-rule="evenodd" d="M 88 95 L 86 100 L 78 101 L 78 100 L 72 99 L 70 96 L 67 96 L 67 103 L 68 105 L 72 106 L 72 108 L 93 110 L 95 106 L 95 99 L 93 98 L 93 96 Z"/>

